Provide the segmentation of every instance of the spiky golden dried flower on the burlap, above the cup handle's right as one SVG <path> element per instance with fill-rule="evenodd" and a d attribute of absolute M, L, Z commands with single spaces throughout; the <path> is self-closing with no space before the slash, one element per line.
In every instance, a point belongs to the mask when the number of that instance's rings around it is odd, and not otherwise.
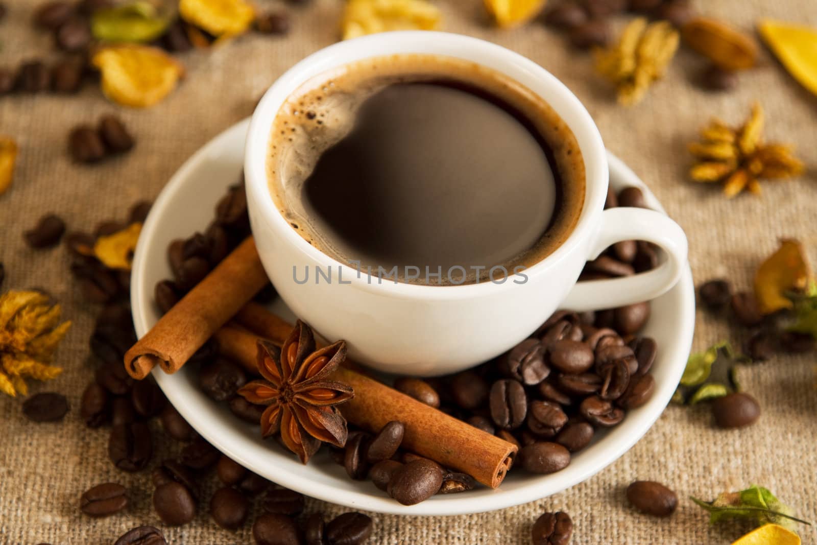
<path fill-rule="evenodd" d="M 731 198 L 743 190 L 760 194 L 761 178 L 778 180 L 803 172 L 803 163 L 791 146 L 764 144 L 762 133 L 763 109 L 759 104 L 738 128 L 712 119 L 701 130 L 701 141 L 689 145 L 690 154 L 698 159 L 690 168 L 690 177 L 704 183 L 724 182 L 723 192 Z"/>

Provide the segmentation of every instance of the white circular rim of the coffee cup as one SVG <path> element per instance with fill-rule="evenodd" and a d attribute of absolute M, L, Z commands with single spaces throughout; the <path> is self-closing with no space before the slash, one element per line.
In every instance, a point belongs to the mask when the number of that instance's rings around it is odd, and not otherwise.
<path fill-rule="evenodd" d="M 283 102 L 308 79 L 355 60 L 374 56 L 411 53 L 453 56 L 463 60 L 470 60 L 515 79 L 540 96 L 547 92 L 547 96 L 542 96 L 542 98 L 547 101 L 548 105 L 551 105 L 551 108 L 556 111 L 556 114 L 565 121 L 570 131 L 573 132 L 585 166 L 585 197 L 582 212 L 567 239 L 550 255 L 529 266 L 524 271 L 525 275 L 528 276 L 527 283 L 533 282 L 534 279 L 542 275 L 547 275 L 547 272 L 559 266 L 570 252 L 580 247 L 583 240 L 592 236 L 594 217 L 597 219 L 603 211 L 609 182 L 609 171 L 607 154 L 601 141 L 600 132 L 587 109 L 573 92 L 570 92 L 564 83 L 561 83 L 559 79 L 541 65 L 505 47 L 462 34 L 404 30 L 353 38 L 334 43 L 312 53 L 276 79 L 275 83 L 261 97 L 261 101 L 258 102 L 252 114 L 248 128 L 247 147 L 244 152 L 244 173 L 248 199 L 252 200 L 252 204 L 257 205 L 260 212 L 257 214 L 258 219 L 263 221 L 270 230 L 273 230 L 275 235 L 283 236 L 288 243 L 296 246 L 307 257 L 317 262 L 319 266 L 346 266 L 350 270 L 354 270 L 348 264 L 337 261 L 307 243 L 301 235 L 298 235 L 289 226 L 288 221 L 281 215 L 278 207 L 275 206 L 270 196 L 266 176 L 271 125 Z M 368 282 L 365 275 L 352 275 L 349 280 L 351 282 L 350 286 L 369 292 L 387 294 L 392 297 L 427 300 L 479 297 L 502 293 L 515 285 L 511 275 L 502 284 L 486 281 L 479 284 L 446 286 L 395 283 L 391 279 L 382 283 Z"/>

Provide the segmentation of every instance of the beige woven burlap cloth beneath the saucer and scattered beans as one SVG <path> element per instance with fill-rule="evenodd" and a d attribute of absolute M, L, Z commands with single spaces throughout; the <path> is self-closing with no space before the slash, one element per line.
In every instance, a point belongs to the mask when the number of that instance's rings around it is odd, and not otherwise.
<path fill-rule="evenodd" d="M 0 65 L 54 55 L 50 38 L 29 21 L 35 0 L 13 0 L 0 23 Z M 279 7 L 258 0 L 265 7 Z M 761 16 L 817 25 L 813 0 L 712 0 L 695 2 L 700 11 L 752 29 Z M 22 231 L 45 212 L 57 212 L 78 230 L 122 218 L 136 199 L 153 199 L 183 161 L 212 136 L 252 112 L 261 93 L 285 69 L 336 40 L 341 0 L 315 0 L 287 7 L 293 30 L 286 38 L 248 36 L 214 51 L 188 53 L 185 82 L 167 100 L 145 111 L 118 108 L 87 86 L 78 96 L 0 98 L 0 133 L 20 144 L 16 181 L 0 197 L 0 261 L 6 288 L 43 286 L 64 303 L 74 327 L 58 353 L 65 366 L 55 382 L 34 391 L 56 390 L 69 398 L 71 412 L 60 424 L 33 424 L 20 400 L 0 398 L 0 543 L 113 543 L 136 525 L 160 525 L 150 508 L 148 472 L 125 474 L 111 466 L 105 429 L 88 430 L 78 416 L 79 397 L 92 377 L 85 363 L 92 309 L 69 277 L 65 249 L 35 252 Z M 764 51 L 761 66 L 741 74 L 739 89 L 712 95 L 690 84 L 702 61 L 682 51 L 665 81 L 641 104 L 623 109 L 593 74 L 589 56 L 574 54 L 563 39 L 541 25 L 499 32 L 486 25 L 479 0 L 443 3 L 445 29 L 498 42 L 537 61 L 561 78 L 587 105 L 609 149 L 629 163 L 681 223 L 690 239 L 697 282 L 728 275 L 748 287 L 754 267 L 780 236 L 797 236 L 817 250 L 817 97 L 810 96 Z M 770 139 L 797 144 L 810 166 L 801 179 L 764 185 L 760 198 L 726 201 L 717 190 L 685 181 L 685 143 L 710 115 L 738 123 L 752 101 L 766 108 Z M 71 127 L 118 111 L 136 135 L 131 154 L 95 166 L 78 166 L 66 153 Z M 812 259 L 817 261 L 817 252 Z M 738 332 L 699 311 L 696 349 Z M 520 507 L 475 516 L 415 518 L 373 515 L 370 543 L 528 543 L 535 518 L 547 510 L 573 516 L 573 543 L 730 543 L 743 527 L 711 528 L 707 517 L 685 498 L 710 498 L 750 483 L 766 485 L 797 513 L 817 521 L 815 492 L 814 355 L 784 356 L 747 369 L 743 382 L 760 400 L 757 425 L 739 431 L 712 427 L 708 409 L 670 407 L 636 446 L 599 475 L 562 494 Z M 167 450 L 169 445 L 164 445 Z M 154 461 L 162 458 L 154 456 Z M 681 498 L 668 520 L 641 516 L 626 506 L 623 487 L 635 479 L 660 480 Z M 133 487 L 127 512 L 92 520 L 78 511 L 84 489 L 106 480 Z M 208 497 L 204 494 L 205 498 Z M 345 508 L 310 501 L 310 511 Z M 249 525 L 239 533 L 220 529 L 199 509 L 193 524 L 164 529 L 176 544 L 249 543 Z M 804 543 L 817 532 L 802 529 Z"/>

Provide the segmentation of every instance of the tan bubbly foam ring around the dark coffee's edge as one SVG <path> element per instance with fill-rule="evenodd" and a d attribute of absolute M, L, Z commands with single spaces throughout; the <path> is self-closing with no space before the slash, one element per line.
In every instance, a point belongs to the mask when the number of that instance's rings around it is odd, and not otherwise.
<path fill-rule="evenodd" d="M 560 192 L 550 226 L 529 249 L 501 263 L 488 264 L 505 266 L 509 274 L 516 267 L 535 265 L 558 248 L 578 222 L 586 183 L 582 154 L 573 132 L 546 101 L 506 75 L 467 60 L 421 54 L 378 56 L 343 65 L 303 83 L 280 107 L 271 128 L 266 164 L 275 206 L 298 235 L 321 252 L 364 273 L 367 265 L 375 269 L 377 263 L 364 262 L 358 267 L 359 257 L 347 255 L 344 248 L 321 235 L 325 226 L 316 225 L 319 221 L 310 217 L 304 186 L 321 155 L 353 130 L 365 101 L 394 84 L 434 80 L 461 82 L 497 97 L 522 114 L 547 144 L 556 163 L 554 176 L 559 179 Z M 463 282 L 455 284 L 488 279 L 487 270 L 479 275 L 469 272 Z M 426 279 L 421 275 L 407 280 L 400 275 L 398 280 L 422 284 Z"/>

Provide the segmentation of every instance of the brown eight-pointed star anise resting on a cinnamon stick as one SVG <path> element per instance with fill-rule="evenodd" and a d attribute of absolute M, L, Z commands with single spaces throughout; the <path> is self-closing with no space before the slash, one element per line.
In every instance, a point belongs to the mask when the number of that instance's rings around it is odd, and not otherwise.
<path fill-rule="evenodd" d="M 258 371 L 263 380 L 239 390 L 253 404 L 266 405 L 261 436 L 280 432 L 288 449 L 309 461 L 321 442 L 346 444 L 346 419 L 336 405 L 354 397 L 351 386 L 328 380 L 346 359 L 346 342 L 315 351 L 312 328 L 297 321 L 283 346 L 258 341 Z"/>

